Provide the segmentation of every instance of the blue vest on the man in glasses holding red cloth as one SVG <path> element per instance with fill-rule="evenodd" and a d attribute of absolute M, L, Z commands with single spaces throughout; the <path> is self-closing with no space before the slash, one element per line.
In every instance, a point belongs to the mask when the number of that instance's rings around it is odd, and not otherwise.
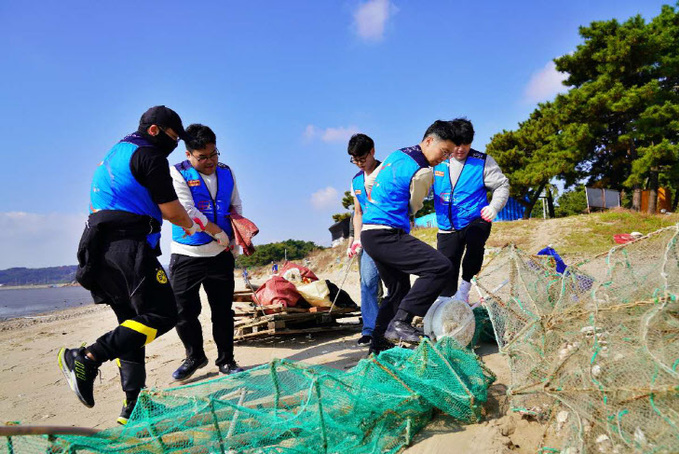
<path fill-rule="evenodd" d="M 217 175 L 217 194 L 212 198 L 210 190 L 200 176 L 200 173 L 193 168 L 191 163 L 186 160 L 175 164 L 175 168 L 186 180 L 186 184 L 191 189 L 193 202 L 205 215 L 210 222 L 217 224 L 224 233 L 233 239 L 233 229 L 231 228 L 231 195 L 233 193 L 233 175 L 231 169 L 221 162 L 217 164 L 215 173 Z M 176 225 L 172 226 L 172 241 L 190 246 L 199 246 L 213 241 L 213 238 L 205 232 L 198 232 L 190 236 L 184 235 L 184 229 Z"/>

